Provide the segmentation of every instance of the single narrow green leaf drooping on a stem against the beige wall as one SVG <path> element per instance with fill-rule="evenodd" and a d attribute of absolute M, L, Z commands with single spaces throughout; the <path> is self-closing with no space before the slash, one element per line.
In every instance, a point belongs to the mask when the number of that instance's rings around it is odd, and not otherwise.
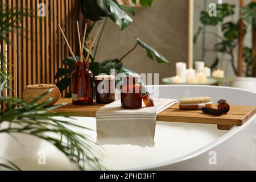
<path fill-rule="evenodd" d="M 147 53 L 147 57 L 151 60 L 156 60 L 158 63 L 170 63 L 166 58 L 160 55 L 154 48 L 148 46 L 146 43 L 142 42 L 141 39 L 137 38 L 138 44 L 143 47 Z"/>

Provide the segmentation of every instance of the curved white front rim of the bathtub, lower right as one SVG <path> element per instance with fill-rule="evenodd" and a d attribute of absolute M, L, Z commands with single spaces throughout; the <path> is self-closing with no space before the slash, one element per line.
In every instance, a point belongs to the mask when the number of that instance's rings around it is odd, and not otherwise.
<path fill-rule="evenodd" d="M 251 117 L 242 126 L 233 127 L 232 130 L 230 130 L 228 133 L 225 133 L 220 138 L 214 140 L 213 142 L 208 143 L 206 146 L 201 147 L 201 148 L 197 149 L 196 151 L 191 152 L 190 154 L 181 156 L 180 158 L 173 159 L 173 160 L 163 162 L 163 163 L 159 163 L 159 164 L 153 164 L 153 165 L 147 166 L 147 167 L 139 167 L 139 168 L 133 168 L 133 169 L 127 169 L 127 170 L 128 171 L 144 171 L 144 170 L 147 170 L 147 169 L 151 170 L 151 169 L 154 169 L 154 168 L 160 168 L 160 167 L 164 167 L 164 166 L 171 166 L 173 164 L 177 164 L 177 163 L 180 163 L 180 162 L 184 162 L 185 160 L 195 158 L 196 156 L 199 156 L 200 154 L 203 154 L 204 152 L 210 151 L 212 148 L 218 146 L 218 144 L 224 142 L 225 140 L 228 140 L 234 134 L 238 133 L 240 130 L 245 129 L 245 127 L 247 125 L 250 125 L 250 123 L 253 122 L 254 120 L 256 120 L 256 114 L 254 114 L 254 116 Z"/>

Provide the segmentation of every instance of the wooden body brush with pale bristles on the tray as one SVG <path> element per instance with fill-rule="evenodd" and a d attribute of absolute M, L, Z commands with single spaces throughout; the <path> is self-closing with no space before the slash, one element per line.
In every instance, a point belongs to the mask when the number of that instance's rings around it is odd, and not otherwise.
<path fill-rule="evenodd" d="M 212 107 L 212 98 L 210 97 L 189 97 L 180 100 L 180 109 L 202 109 L 203 107 Z"/>

